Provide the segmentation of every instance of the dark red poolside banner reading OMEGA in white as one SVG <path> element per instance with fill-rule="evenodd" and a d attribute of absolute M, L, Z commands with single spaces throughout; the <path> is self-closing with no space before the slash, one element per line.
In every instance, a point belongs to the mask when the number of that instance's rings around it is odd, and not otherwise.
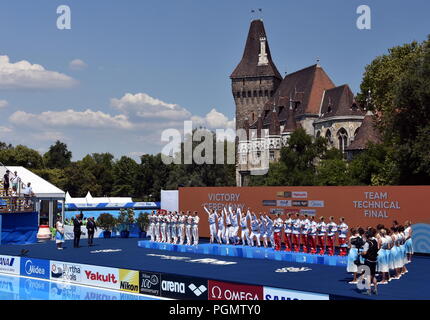
<path fill-rule="evenodd" d="M 208 281 L 209 300 L 263 300 L 263 287 Z"/>

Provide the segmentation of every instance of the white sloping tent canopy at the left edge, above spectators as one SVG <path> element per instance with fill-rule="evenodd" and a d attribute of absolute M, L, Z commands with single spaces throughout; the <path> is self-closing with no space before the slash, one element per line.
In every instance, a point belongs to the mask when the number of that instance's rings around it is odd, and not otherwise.
<path fill-rule="evenodd" d="M 38 175 L 34 174 L 30 170 L 24 167 L 16 167 L 16 166 L 8 166 L 7 169 L 13 174 L 15 171 L 18 174 L 18 177 L 21 181 L 27 185 L 27 183 L 31 183 L 31 187 L 33 189 L 34 194 L 39 199 L 51 199 L 51 200 L 64 200 L 65 192 L 50 182 L 42 179 Z M 1 177 L 6 173 L 7 170 L 5 167 L 0 167 Z"/>

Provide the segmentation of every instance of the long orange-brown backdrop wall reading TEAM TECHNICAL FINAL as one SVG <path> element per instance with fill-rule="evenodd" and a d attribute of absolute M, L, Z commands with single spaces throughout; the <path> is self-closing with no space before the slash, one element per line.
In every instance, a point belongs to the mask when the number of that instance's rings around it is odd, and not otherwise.
<path fill-rule="evenodd" d="M 387 227 L 412 221 L 415 252 L 430 253 L 430 186 L 352 187 L 196 187 L 179 188 L 179 209 L 197 211 L 199 232 L 209 237 L 208 209 L 251 208 L 255 213 L 297 212 L 316 217 L 345 217 L 350 227 Z M 281 201 L 287 200 L 287 201 Z M 291 201 L 292 207 L 289 207 Z M 287 206 L 285 206 L 287 205 Z"/>

